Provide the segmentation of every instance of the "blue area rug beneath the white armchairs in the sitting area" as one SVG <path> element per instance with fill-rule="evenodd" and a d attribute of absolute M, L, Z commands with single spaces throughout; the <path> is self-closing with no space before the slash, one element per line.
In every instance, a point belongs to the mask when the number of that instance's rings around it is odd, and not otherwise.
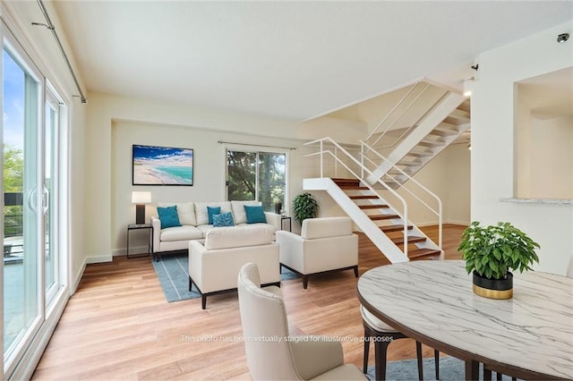
<path fill-rule="evenodd" d="M 186 251 L 160 256 L 157 262 L 151 260 L 151 263 L 153 263 L 167 301 L 184 301 L 201 296 L 195 284 L 189 292 L 189 256 Z M 283 281 L 297 276 L 286 268 L 283 268 L 281 272 L 280 279 Z"/>

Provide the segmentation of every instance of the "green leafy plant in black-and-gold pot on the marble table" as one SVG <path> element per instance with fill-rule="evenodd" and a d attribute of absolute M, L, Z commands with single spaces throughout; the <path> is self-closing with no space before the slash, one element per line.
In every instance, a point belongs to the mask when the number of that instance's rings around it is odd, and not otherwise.
<path fill-rule="evenodd" d="M 481 226 L 469 225 L 459 243 L 458 251 L 466 261 L 467 274 L 473 272 L 474 292 L 492 299 L 513 296 L 513 274 L 509 270 L 531 270 L 539 258 L 533 241 L 509 223 Z"/>

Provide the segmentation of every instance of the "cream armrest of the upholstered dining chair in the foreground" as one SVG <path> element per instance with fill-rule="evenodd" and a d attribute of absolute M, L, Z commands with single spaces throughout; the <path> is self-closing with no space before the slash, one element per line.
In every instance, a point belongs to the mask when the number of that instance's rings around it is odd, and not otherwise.
<path fill-rule="evenodd" d="M 332 337 L 294 336 L 290 347 L 296 371 L 304 380 L 344 364 L 342 344 Z"/>

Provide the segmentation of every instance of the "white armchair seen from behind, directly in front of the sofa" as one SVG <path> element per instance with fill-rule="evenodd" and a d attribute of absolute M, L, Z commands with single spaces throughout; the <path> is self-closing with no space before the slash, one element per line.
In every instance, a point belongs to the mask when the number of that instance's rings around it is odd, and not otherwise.
<path fill-rule="evenodd" d="M 261 283 L 280 285 L 278 244 L 271 226 L 219 227 L 206 233 L 205 242 L 189 241 L 189 291 L 192 284 L 201 293 L 201 308 L 207 296 L 236 290 L 239 270 L 256 263 Z"/>

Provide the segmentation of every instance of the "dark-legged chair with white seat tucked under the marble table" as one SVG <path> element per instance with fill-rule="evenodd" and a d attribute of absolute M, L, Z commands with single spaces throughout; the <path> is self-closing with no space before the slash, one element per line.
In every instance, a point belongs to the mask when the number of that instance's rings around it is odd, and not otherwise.
<path fill-rule="evenodd" d="M 368 372 L 368 355 L 370 352 L 370 341 L 374 338 L 374 366 L 375 377 L 377 380 L 386 379 L 386 354 L 389 343 L 398 339 L 407 339 L 408 337 L 396 329 L 387 325 L 381 319 L 376 318 L 372 313 L 360 306 L 360 313 L 364 326 L 364 360 L 363 373 Z M 423 380 L 423 362 L 422 362 L 422 344 L 415 342 L 415 354 L 418 360 L 418 379 Z M 433 350 L 436 379 L 440 379 L 440 351 Z"/>

